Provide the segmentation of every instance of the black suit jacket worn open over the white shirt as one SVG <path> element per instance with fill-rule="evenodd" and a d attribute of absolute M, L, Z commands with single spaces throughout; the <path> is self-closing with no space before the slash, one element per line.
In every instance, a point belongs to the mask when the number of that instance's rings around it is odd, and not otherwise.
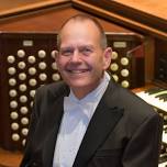
<path fill-rule="evenodd" d="M 21 167 L 52 167 L 68 93 L 64 82 L 37 90 Z M 111 80 L 73 167 L 157 167 L 162 122 L 153 108 Z"/>

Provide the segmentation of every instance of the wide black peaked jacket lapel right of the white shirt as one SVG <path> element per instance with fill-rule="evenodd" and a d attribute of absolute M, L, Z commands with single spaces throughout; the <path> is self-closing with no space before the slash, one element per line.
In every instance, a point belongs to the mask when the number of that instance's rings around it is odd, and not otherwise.
<path fill-rule="evenodd" d="M 81 142 L 76 160 L 73 167 L 86 167 L 97 148 L 107 140 L 123 115 L 123 110 L 114 105 L 116 94 L 111 82 L 108 86 L 102 100 L 100 101 L 86 135 Z"/>

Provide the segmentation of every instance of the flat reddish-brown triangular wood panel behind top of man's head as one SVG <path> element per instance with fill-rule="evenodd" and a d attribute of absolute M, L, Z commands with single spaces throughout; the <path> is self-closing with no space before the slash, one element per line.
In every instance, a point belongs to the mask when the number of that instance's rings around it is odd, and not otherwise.
<path fill-rule="evenodd" d="M 81 13 L 71 7 L 32 12 L 0 22 L 1 31 L 57 31 L 69 16 Z M 114 23 L 99 19 L 105 31 L 132 32 Z"/>

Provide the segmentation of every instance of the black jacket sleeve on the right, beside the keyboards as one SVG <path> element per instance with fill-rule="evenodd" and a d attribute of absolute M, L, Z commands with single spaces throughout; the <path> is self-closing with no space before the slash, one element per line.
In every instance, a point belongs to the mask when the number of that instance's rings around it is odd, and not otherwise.
<path fill-rule="evenodd" d="M 163 119 L 147 116 L 130 140 L 122 158 L 123 167 L 158 167 Z"/>

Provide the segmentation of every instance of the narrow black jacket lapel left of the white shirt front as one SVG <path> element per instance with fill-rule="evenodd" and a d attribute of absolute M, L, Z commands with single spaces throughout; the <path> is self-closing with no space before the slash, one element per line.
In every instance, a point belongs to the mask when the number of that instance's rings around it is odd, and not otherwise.
<path fill-rule="evenodd" d="M 54 103 L 48 105 L 47 111 L 51 111 L 48 116 L 53 125 L 43 146 L 43 167 L 52 167 L 53 165 L 57 134 L 64 113 L 64 97 L 69 94 L 69 88 L 60 81 L 49 87 L 49 94 L 52 94 Z"/>

